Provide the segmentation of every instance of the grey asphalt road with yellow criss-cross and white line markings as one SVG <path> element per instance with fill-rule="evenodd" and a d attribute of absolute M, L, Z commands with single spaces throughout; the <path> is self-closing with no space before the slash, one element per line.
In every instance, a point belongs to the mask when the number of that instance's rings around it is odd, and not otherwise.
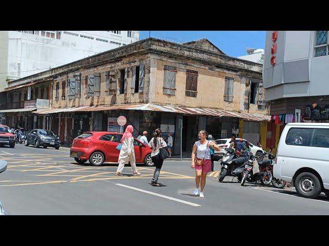
<path fill-rule="evenodd" d="M 162 187 L 152 187 L 154 168 L 138 165 L 140 177 L 126 166 L 79 165 L 68 149 L 35 149 L 16 145 L 0 148 L 8 168 L 0 174 L 0 200 L 9 215 L 328 215 L 329 198 L 299 197 L 294 189 L 276 189 L 236 178 L 218 183 L 209 173 L 205 198 L 192 195 L 194 171 L 190 161 L 166 160 L 160 173 Z"/>

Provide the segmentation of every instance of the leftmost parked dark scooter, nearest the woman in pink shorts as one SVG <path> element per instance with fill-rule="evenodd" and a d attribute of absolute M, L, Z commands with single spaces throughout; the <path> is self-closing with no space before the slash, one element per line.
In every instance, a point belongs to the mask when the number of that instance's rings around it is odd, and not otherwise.
<path fill-rule="evenodd" d="M 218 181 L 222 182 L 226 176 L 231 176 L 237 177 L 237 180 L 241 182 L 247 157 L 245 154 L 240 154 L 240 152 L 236 152 L 232 148 L 225 148 L 225 150 L 227 153 L 221 161 Z"/>

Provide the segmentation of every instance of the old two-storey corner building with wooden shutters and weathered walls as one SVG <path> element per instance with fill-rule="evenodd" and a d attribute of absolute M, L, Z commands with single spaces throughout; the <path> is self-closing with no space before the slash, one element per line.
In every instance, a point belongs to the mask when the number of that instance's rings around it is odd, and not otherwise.
<path fill-rule="evenodd" d="M 163 135 L 171 132 L 175 152 L 180 120 L 182 151 L 191 150 L 201 129 L 216 139 L 236 134 L 266 141 L 270 117 L 262 65 L 230 57 L 207 39 L 186 44 L 143 39 L 11 81 L 4 93 L 8 99 L 13 91 L 29 93 L 39 85 L 49 88 L 49 107 L 31 111 L 34 122 L 68 145 L 84 131 L 117 131 L 121 115 L 136 136 L 148 131 L 151 138 L 157 127 Z"/>

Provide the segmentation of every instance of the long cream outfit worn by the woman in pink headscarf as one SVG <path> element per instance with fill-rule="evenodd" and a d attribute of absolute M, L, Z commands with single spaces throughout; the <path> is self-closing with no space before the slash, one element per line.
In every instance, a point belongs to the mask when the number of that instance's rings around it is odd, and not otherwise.
<path fill-rule="evenodd" d="M 128 153 L 130 153 L 130 156 L 128 155 Z M 128 164 L 129 162 L 133 168 L 133 172 L 137 172 L 133 137 L 125 138 L 123 140 L 118 162 L 119 166 L 117 173 L 121 173 L 124 168 L 124 165 Z"/>

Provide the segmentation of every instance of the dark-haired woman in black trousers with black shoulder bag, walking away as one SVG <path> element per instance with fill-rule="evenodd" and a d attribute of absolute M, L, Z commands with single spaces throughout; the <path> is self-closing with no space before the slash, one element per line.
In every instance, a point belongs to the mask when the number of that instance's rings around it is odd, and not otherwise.
<path fill-rule="evenodd" d="M 160 158 L 160 148 L 167 147 L 166 141 L 163 140 L 161 137 L 161 129 L 157 128 L 155 129 L 153 133 L 153 138 L 151 139 L 149 146 L 152 148 L 151 152 L 151 158 L 152 162 L 155 164 L 155 170 L 153 174 L 153 178 L 151 181 L 152 186 L 161 186 L 160 183 L 158 183 L 160 170 L 162 168 L 163 159 Z"/>

